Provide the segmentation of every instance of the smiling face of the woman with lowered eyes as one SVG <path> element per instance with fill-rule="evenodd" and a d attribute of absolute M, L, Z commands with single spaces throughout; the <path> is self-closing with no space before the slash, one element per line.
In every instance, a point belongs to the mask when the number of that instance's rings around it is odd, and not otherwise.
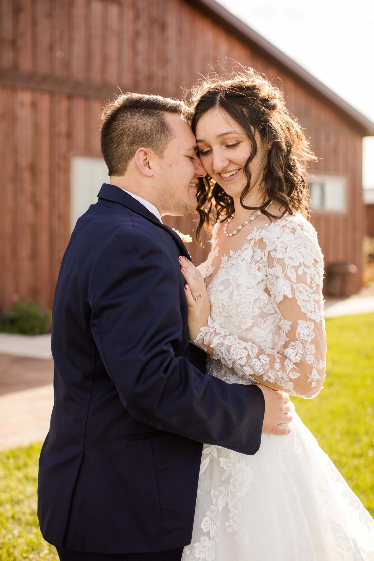
<path fill-rule="evenodd" d="M 204 169 L 228 195 L 238 198 L 247 185 L 243 172 L 252 142 L 239 123 L 219 107 L 210 109 L 196 125 L 197 146 Z M 267 150 L 255 131 L 257 154 L 250 164 L 251 189 L 258 188 L 266 165 Z"/>

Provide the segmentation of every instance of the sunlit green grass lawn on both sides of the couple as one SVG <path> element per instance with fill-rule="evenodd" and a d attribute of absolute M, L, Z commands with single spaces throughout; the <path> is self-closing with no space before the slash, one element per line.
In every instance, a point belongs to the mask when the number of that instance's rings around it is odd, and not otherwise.
<path fill-rule="evenodd" d="M 326 320 L 327 378 L 297 412 L 374 515 L 374 314 Z M 58 559 L 40 535 L 36 480 L 40 444 L 0 452 L 0 561 Z"/>

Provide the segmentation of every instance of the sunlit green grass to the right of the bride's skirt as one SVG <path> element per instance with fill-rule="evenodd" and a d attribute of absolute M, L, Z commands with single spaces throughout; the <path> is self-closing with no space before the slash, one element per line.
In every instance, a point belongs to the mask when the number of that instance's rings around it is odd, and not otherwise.
<path fill-rule="evenodd" d="M 374 314 L 326 319 L 326 380 L 298 415 L 374 516 Z"/>

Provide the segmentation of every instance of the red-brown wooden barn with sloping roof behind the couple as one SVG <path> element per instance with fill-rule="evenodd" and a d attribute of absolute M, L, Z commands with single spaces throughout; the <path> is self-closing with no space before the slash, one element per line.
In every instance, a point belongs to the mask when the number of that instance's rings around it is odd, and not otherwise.
<path fill-rule="evenodd" d="M 105 181 L 104 100 L 119 88 L 181 98 L 220 57 L 283 88 L 322 158 L 312 222 L 326 264 L 357 265 L 349 290 L 361 287 L 362 137 L 374 125 L 220 4 L 0 0 L 0 29 L 0 305 L 14 294 L 52 303 L 73 224 Z M 192 233 L 191 216 L 174 226 Z"/>

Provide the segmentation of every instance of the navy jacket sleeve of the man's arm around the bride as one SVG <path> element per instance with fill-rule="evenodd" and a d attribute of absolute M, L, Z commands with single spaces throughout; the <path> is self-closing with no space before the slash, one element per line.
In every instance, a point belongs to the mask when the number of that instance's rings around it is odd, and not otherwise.
<path fill-rule="evenodd" d="M 91 329 L 105 368 L 137 421 L 254 454 L 265 410 L 261 390 L 226 384 L 174 355 L 182 336 L 177 275 L 150 237 L 130 232 L 108 243 L 89 290 Z"/>

